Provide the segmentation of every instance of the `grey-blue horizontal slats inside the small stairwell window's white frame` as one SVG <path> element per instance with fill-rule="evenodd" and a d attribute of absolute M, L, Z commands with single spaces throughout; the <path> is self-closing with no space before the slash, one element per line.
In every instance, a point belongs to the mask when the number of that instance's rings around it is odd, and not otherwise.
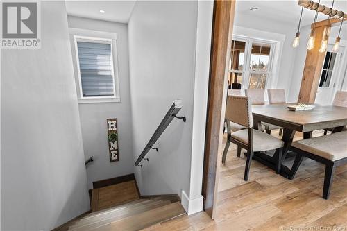
<path fill-rule="evenodd" d="M 77 49 L 82 96 L 115 96 L 111 44 L 77 41 Z"/>

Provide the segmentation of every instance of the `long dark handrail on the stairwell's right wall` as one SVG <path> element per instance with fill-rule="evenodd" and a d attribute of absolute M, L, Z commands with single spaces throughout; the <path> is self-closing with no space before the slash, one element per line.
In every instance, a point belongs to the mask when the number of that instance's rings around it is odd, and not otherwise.
<path fill-rule="evenodd" d="M 152 146 L 153 146 L 153 144 L 155 144 L 155 142 L 157 142 L 160 135 L 162 135 L 162 132 L 164 132 L 164 130 L 167 129 L 167 126 L 169 126 L 169 124 L 171 123 L 171 121 L 174 118 L 183 119 L 183 122 L 186 121 L 185 117 L 178 117 L 177 116 L 177 113 L 180 111 L 181 108 L 182 108 L 182 101 L 176 100 L 176 101 L 174 101 L 174 103 L 172 103 L 169 111 L 167 112 L 167 114 L 165 114 L 165 116 L 162 119 L 162 121 L 160 122 L 158 128 L 155 130 L 151 139 L 149 139 L 149 142 L 146 144 L 144 151 L 142 151 L 141 155 L 139 155 L 139 157 L 137 158 L 137 160 L 135 162 L 135 166 L 141 166 L 142 167 L 142 165 L 139 163 L 142 160 L 147 160 L 147 161 L 149 160 L 148 158 L 145 158 L 145 156 L 149 152 L 149 150 L 155 149 L 156 151 L 158 151 L 158 148 L 153 148 Z"/>

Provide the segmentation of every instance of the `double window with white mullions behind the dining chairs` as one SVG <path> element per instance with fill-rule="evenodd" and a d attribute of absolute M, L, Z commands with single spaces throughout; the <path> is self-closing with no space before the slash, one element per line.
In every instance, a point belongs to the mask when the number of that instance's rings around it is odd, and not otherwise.
<path fill-rule="evenodd" d="M 232 40 L 229 88 L 265 89 L 271 74 L 272 49 L 271 42 Z"/>

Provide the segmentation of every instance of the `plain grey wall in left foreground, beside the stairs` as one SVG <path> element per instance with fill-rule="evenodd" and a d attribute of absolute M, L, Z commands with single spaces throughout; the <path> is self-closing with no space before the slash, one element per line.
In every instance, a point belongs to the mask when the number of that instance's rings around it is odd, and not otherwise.
<path fill-rule="evenodd" d="M 1 230 L 51 230 L 90 209 L 64 1 L 42 48 L 1 51 Z"/>

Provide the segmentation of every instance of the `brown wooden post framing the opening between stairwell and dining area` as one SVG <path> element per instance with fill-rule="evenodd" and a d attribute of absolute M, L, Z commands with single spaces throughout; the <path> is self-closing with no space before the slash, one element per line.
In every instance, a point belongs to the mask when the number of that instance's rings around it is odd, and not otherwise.
<path fill-rule="evenodd" d="M 218 169 L 221 160 L 223 121 L 228 88 L 228 61 L 236 0 L 216 0 L 213 9 L 208 112 L 203 163 L 204 210 L 214 218 L 217 203 Z"/>

